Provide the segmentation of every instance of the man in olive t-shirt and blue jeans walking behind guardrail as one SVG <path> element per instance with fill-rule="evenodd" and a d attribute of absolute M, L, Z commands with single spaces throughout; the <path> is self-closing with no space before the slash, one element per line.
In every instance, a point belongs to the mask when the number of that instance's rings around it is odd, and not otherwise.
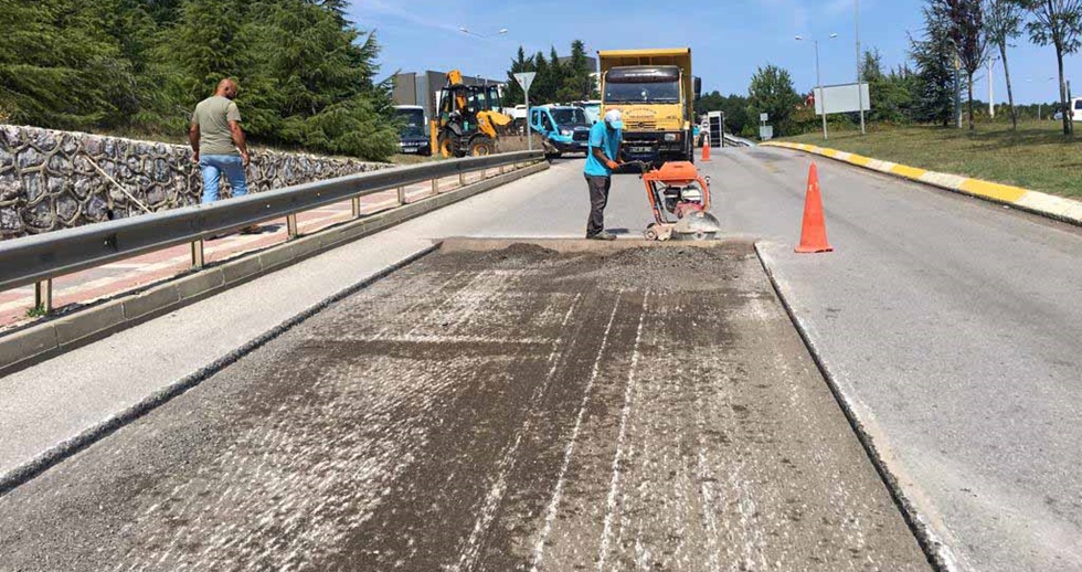
<path fill-rule="evenodd" d="M 194 151 L 192 160 L 203 172 L 204 204 L 218 200 L 223 174 L 233 197 L 247 193 L 244 169 L 248 166 L 248 150 L 241 129 L 241 112 L 233 103 L 236 94 L 236 83 L 222 80 L 214 95 L 200 102 L 192 114 L 188 139 Z"/>

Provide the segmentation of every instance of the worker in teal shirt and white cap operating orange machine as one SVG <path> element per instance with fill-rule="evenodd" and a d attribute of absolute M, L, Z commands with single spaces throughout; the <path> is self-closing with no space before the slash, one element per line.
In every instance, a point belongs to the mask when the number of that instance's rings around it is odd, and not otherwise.
<path fill-rule="evenodd" d="M 616 235 L 605 230 L 605 205 L 613 187 L 613 171 L 619 167 L 619 145 L 624 121 L 619 109 L 609 109 L 604 121 L 590 128 L 590 152 L 586 153 L 586 187 L 590 189 L 590 219 L 586 237 L 612 241 Z"/>

